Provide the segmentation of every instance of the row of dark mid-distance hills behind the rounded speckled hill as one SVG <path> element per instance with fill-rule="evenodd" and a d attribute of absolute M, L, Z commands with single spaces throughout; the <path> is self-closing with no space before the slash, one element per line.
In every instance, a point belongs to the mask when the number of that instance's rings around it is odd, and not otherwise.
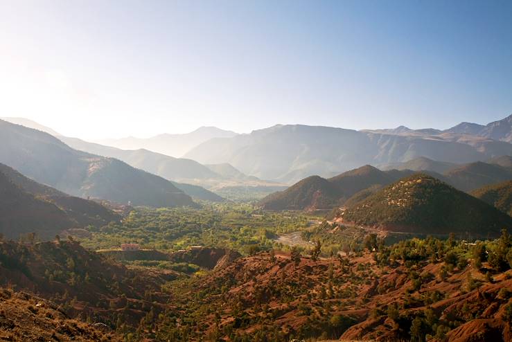
<path fill-rule="evenodd" d="M 506 165 L 507 159 L 512 157 L 503 156 L 494 160 Z M 330 179 L 307 177 L 286 190 L 265 197 L 260 205 L 269 210 L 318 210 L 344 206 L 356 202 L 355 199 L 364 199 L 383 186 L 418 171 L 466 192 L 512 179 L 512 168 L 497 165 L 493 161 L 459 165 L 421 157 L 395 166 L 398 170 L 379 170 L 365 165 Z"/>

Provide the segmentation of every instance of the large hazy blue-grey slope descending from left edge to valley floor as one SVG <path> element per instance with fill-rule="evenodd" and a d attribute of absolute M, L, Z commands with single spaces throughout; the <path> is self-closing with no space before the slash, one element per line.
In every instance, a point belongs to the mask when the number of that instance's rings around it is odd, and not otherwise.
<path fill-rule="evenodd" d="M 194 206 L 172 183 L 130 165 L 73 150 L 57 138 L 0 120 L 0 163 L 78 197 L 146 206 Z"/>

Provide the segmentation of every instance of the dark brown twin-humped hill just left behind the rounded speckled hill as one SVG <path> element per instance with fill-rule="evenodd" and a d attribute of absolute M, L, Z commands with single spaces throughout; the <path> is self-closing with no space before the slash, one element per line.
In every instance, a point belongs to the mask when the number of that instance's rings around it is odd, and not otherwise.
<path fill-rule="evenodd" d="M 397 170 L 383 172 L 364 165 L 330 179 L 308 177 L 286 190 L 265 197 L 259 205 L 270 210 L 330 209 L 344 204 L 357 192 L 373 186 L 385 186 L 404 175 Z"/>

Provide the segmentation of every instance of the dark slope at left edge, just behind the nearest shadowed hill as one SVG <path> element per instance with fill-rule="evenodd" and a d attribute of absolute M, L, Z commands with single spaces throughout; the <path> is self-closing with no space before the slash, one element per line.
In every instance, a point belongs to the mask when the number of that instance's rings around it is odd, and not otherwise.
<path fill-rule="evenodd" d="M 49 186 L 44 186 L 32 179 L 24 177 L 24 175 L 20 174 L 16 170 L 1 163 L 0 173 L 20 190 L 27 192 L 36 199 L 54 204 L 62 210 L 73 222 L 67 228 L 77 226 L 85 227 L 89 225 L 100 227 L 105 226 L 109 222 L 116 222 L 121 219 L 121 217 L 113 213 L 111 210 L 108 210 L 95 201 L 89 201 L 80 197 L 72 197 Z M 29 217 L 30 215 L 30 211 L 24 213 L 24 216 L 26 217 Z M 32 227 L 32 231 L 37 232 L 37 228 L 36 224 Z M 30 230 L 30 227 L 28 227 L 28 230 Z"/>

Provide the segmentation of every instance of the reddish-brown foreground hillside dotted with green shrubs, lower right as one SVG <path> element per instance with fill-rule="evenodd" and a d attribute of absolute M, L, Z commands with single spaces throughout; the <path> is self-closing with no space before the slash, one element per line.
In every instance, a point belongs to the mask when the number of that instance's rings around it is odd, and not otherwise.
<path fill-rule="evenodd" d="M 330 258 L 297 251 L 238 258 L 202 278 L 177 283 L 175 303 L 193 324 L 175 327 L 172 318 L 162 316 L 158 336 L 426 341 L 430 334 L 433 341 L 509 341 L 511 273 L 493 269 L 486 260 L 473 267 L 475 259 L 467 259 L 464 246 L 408 240 L 373 253 Z M 202 296 L 191 300 L 196 293 Z M 198 315 L 193 307 L 215 314 Z M 475 327 L 495 339 L 470 339 Z"/>

